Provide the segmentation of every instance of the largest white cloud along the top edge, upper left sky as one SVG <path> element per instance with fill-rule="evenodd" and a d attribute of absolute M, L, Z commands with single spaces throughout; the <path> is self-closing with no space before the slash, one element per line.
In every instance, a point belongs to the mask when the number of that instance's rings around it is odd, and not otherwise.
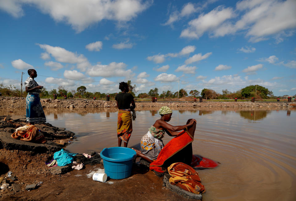
<path fill-rule="evenodd" d="M 28 3 L 49 14 L 56 22 L 70 24 L 77 32 L 104 19 L 115 20 L 119 24 L 128 22 L 151 5 L 151 1 L 140 0 L 71 0 L 71 3 L 60 0 L 6 0 L 1 2 L 0 9 L 14 17 L 21 17 L 24 14 L 22 6 Z"/>

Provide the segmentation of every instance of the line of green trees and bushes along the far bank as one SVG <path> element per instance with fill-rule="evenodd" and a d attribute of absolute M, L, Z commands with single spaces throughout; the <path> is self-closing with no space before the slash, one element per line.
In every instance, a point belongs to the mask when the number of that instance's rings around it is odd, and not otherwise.
<path fill-rule="evenodd" d="M 274 96 L 273 92 L 268 90 L 267 88 L 260 86 L 260 85 L 250 85 L 246 86 L 245 88 L 242 88 L 240 90 L 231 92 L 227 89 L 222 90 L 222 94 L 218 93 L 217 91 L 213 89 L 207 89 L 204 88 L 201 92 L 198 90 L 190 90 L 189 93 L 185 89 L 180 89 L 179 91 L 162 91 L 159 92 L 158 88 L 150 89 L 148 93 L 140 93 L 137 96 L 135 95 L 137 93 L 136 85 L 132 85 L 131 81 L 129 80 L 128 85 L 130 87 L 130 92 L 135 98 L 161 98 L 161 99 L 172 99 L 172 98 L 178 98 L 178 92 L 179 92 L 179 98 L 184 97 L 193 97 L 193 98 L 199 98 L 202 97 L 204 99 L 248 99 L 251 97 L 254 97 L 256 99 L 275 99 L 275 98 L 284 98 L 282 96 Z M 21 96 L 21 90 L 16 88 L 15 86 L 4 86 L 3 84 L 0 84 L 0 92 L 2 93 L 2 96 Z M 49 98 L 53 97 L 53 94 L 56 94 L 58 97 L 64 97 L 67 96 L 68 98 L 105 98 L 107 95 L 110 96 L 110 99 L 115 98 L 116 94 L 120 93 L 121 91 L 118 91 L 117 93 L 101 93 L 99 91 L 97 92 L 89 92 L 87 91 L 87 88 L 85 86 L 79 86 L 76 90 L 68 91 L 64 88 L 64 86 L 59 86 L 57 89 L 47 90 L 46 88 L 41 89 L 40 97 L 41 98 Z M 26 91 L 23 91 L 23 97 L 27 95 Z M 296 94 L 294 95 L 296 97 Z"/>

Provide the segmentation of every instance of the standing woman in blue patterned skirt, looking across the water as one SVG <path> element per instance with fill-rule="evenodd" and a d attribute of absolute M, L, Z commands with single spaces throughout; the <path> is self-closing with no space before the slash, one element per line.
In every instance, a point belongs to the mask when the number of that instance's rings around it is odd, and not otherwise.
<path fill-rule="evenodd" d="M 44 123 L 46 118 L 39 97 L 40 89 L 43 86 L 38 85 L 34 80 L 37 77 L 35 69 L 29 69 L 28 74 L 30 77 L 25 81 L 26 92 L 28 93 L 26 98 L 27 122 L 33 125 L 35 123 Z"/>

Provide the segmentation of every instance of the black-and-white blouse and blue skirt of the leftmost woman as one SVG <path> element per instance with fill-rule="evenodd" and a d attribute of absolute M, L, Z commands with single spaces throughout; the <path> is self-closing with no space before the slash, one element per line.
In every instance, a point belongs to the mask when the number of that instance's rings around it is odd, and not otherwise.
<path fill-rule="evenodd" d="M 28 78 L 25 82 L 25 86 L 34 88 L 38 86 L 37 82 Z M 34 92 L 29 92 L 26 97 L 26 116 L 29 123 L 43 123 L 46 122 L 44 111 L 40 103 L 39 97 L 40 89 L 35 89 Z"/>

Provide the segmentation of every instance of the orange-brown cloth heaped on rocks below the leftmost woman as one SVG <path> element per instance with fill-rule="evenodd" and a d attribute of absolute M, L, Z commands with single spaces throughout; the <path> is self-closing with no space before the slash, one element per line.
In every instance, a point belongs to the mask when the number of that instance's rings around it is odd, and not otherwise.
<path fill-rule="evenodd" d="M 38 128 L 35 125 L 25 125 L 19 127 L 15 130 L 11 137 L 34 143 L 46 143 L 43 134 L 38 131 Z"/>

